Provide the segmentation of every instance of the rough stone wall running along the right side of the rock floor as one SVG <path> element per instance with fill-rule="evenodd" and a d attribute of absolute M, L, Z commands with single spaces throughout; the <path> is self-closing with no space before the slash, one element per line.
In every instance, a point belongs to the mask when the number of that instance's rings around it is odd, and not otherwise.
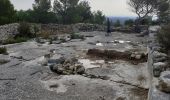
<path fill-rule="evenodd" d="M 148 46 L 148 69 L 150 73 L 150 89 L 148 100 L 170 100 L 170 72 L 168 71 L 168 55 L 161 52 L 156 40 L 158 27 L 153 27 Z"/>

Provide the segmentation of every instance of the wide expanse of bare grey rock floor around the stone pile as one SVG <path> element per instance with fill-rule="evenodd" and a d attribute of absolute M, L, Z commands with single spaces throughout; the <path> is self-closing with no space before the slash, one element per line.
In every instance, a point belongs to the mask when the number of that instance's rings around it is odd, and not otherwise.
<path fill-rule="evenodd" d="M 8 61 L 0 65 L 0 100 L 146 100 L 148 68 L 146 59 L 140 59 L 147 56 L 147 37 L 119 32 L 108 37 L 105 32 L 81 34 L 85 40 L 5 45 L 9 55 L 0 55 L 0 60 Z M 89 49 L 118 54 L 114 59 L 87 55 Z M 85 72 L 51 71 L 51 64 L 60 57 L 76 58 Z"/>

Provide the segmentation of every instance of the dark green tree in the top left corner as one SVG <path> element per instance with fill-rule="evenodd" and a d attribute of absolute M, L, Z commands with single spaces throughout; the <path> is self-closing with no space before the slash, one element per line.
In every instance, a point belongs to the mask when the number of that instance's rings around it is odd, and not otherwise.
<path fill-rule="evenodd" d="M 0 25 L 8 24 L 14 20 L 15 10 L 9 0 L 0 0 Z"/>

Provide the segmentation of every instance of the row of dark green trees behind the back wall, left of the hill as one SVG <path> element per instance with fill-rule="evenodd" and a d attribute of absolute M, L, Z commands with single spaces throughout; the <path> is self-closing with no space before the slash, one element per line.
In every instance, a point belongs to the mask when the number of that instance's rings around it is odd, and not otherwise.
<path fill-rule="evenodd" d="M 35 0 L 32 9 L 15 10 L 10 0 L 0 0 L 0 25 L 12 22 L 31 23 L 93 23 L 103 24 L 105 15 L 92 12 L 88 1 L 81 0 Z"/>

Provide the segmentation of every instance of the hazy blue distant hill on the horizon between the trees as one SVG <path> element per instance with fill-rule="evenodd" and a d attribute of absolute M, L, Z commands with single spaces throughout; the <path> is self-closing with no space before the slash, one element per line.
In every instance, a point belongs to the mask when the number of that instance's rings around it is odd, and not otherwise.
<path fill-rule="evenodd" d="M 132 19 L 132 20 L 135 20 L 136 17 L 130 17 L 130 16 L 120 16 L 120 17 L 114 17 L 114 16 L 109 16 L 108 17 L 113 23 L 115 23 L 117 20 L 120 20 L 120 23 L 123 25 L 124 22 L 128 19 Z"/>

